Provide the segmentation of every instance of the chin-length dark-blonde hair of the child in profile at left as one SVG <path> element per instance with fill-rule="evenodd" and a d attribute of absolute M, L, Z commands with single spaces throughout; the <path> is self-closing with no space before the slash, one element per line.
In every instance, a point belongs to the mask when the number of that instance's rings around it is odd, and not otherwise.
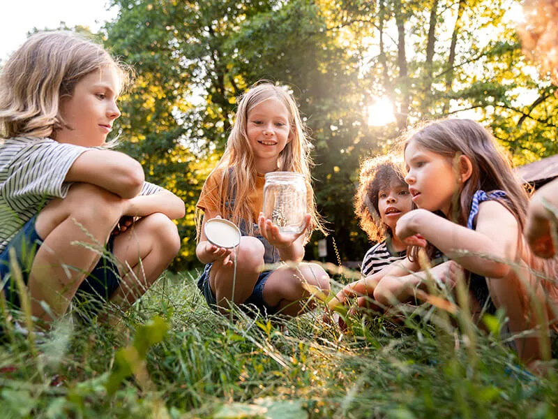
<path fill-rule="evenodd" d="M 0 138 L 54 137 L 65 126 L 61 98 L 72 96 L 82 78 L 105 67 L 119 72 L 121 89 L 128 85 L 130 68 L 101 45 L 73 32 L 30 36 L 0 74 Z"/>

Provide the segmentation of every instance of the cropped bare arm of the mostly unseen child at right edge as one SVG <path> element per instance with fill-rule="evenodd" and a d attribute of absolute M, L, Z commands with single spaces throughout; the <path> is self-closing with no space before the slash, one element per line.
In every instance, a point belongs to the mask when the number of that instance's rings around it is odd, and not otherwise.
<path fill-rule="evenodd" d="M 548 207 L 558 210 L 558 180 L 539 189 L 531 198 L 527 210 L 525 237 L 534 253 L 543 258 L 551 258 L 557 251 L 551 234 L 552 229 L 557 228 L 557 220 Z"/>

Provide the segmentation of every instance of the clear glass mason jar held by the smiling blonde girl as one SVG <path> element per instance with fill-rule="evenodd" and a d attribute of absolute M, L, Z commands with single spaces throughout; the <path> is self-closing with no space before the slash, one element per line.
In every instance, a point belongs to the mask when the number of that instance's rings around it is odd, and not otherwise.
<path fill-rule="evenodd" d="M 300 233 L 307 212 L 304 175 L 295 172 L 266 173 L 263 212 L 281 233 Z"/>

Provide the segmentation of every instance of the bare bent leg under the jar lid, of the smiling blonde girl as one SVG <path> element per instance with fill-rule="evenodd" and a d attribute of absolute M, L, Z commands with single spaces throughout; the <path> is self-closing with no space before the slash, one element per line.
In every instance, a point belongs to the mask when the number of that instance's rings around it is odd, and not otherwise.
<path fill-rule="evenodd" d="M 234 264 L 224 266 L 222 261 L 213 263 L 209 272 L 209 285 L 219 307 L 228 307 L 227 301 L 241 304 L 248 300 L 254 291 L 260 268 L 264 265 L 264 251 L 264 244 L 257 238 L 242 237 L 236 249 L 236 279 Z"/>

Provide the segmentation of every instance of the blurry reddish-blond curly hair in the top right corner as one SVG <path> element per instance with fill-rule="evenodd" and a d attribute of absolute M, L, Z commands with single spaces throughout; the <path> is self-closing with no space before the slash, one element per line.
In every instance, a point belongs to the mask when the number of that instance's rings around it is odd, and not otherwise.
<path fill-rule="evenodd" d="M 558 1 L 525 0 L 523 15 L 518 24 L 523 52 L 558 85 Z"/>

